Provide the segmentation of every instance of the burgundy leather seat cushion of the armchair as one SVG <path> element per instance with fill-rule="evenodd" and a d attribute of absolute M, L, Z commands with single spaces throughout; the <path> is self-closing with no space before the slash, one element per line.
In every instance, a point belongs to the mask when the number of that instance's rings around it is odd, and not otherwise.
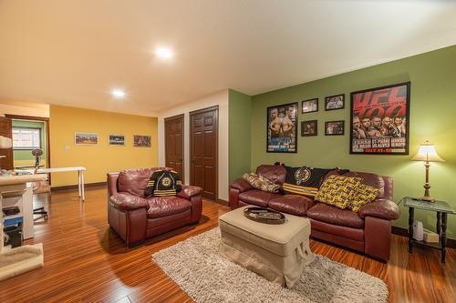
<path fill-rule="evenodd" d="M 149 202 L 147 217 L 166 217 L 179 214 L 192 207 L 189 200 L 181 197 L 149 197 L 146 199 Z"/>

